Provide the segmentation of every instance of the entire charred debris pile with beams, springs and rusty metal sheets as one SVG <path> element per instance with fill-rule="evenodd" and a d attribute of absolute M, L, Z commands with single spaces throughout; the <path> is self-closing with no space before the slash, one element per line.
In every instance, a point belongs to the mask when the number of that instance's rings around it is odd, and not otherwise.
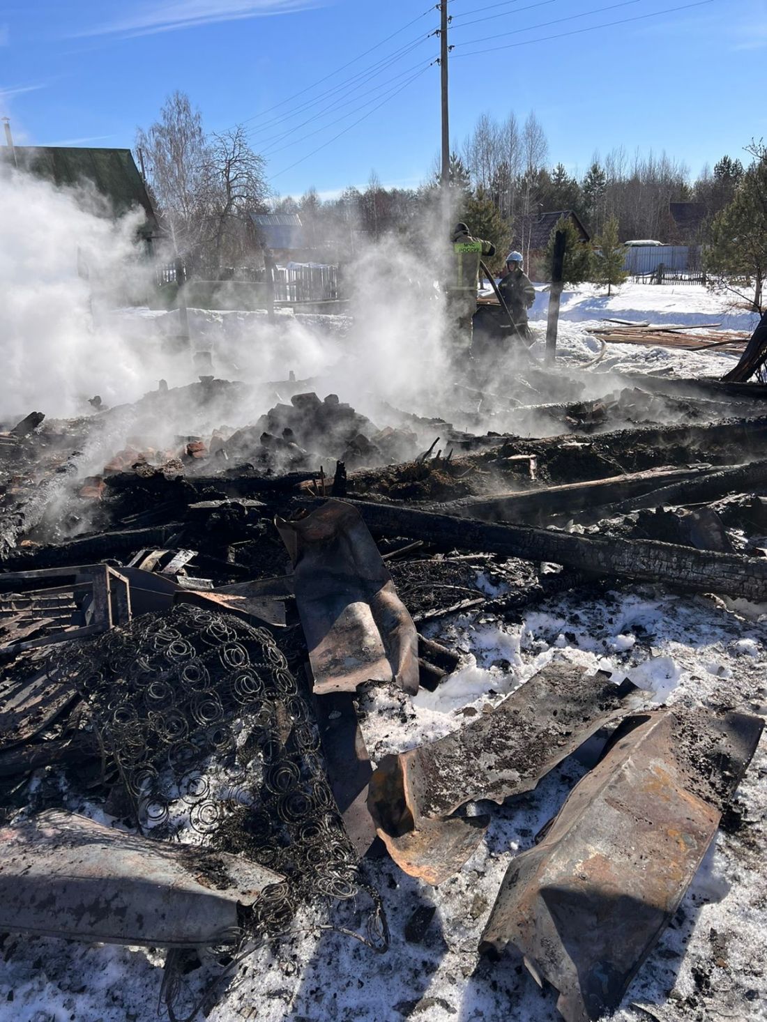
<path fill-rule="evenodd" d="M 252 426 L 123 439 L 97 468 L 108 412 L 8 424 L 0 930 L 167 948 L 167 1009 L 193 1017 L 299 918 L 387 950 L 377 857 L 444 884 L 494 807 L 596 737 L 536 843 L 508 851 L 477 954 L 524 957 L 570 1022 L 616 1009 L 755 753 L 742 693 L 664 706 L 554 658 L 374 762 L 360 699 L 439 695 L 463 653 L 434 626 L 458 613 L 642 584 L 767 601 L 762 388 L 625 383 L 545 406 L 463 388 L 458 426 L 388 409 L 386 428 L 296 384 Z M 553 435 L 476 435 L 481 405 Z M 180 1007 L 206 946 L 219 971 Z"/>

